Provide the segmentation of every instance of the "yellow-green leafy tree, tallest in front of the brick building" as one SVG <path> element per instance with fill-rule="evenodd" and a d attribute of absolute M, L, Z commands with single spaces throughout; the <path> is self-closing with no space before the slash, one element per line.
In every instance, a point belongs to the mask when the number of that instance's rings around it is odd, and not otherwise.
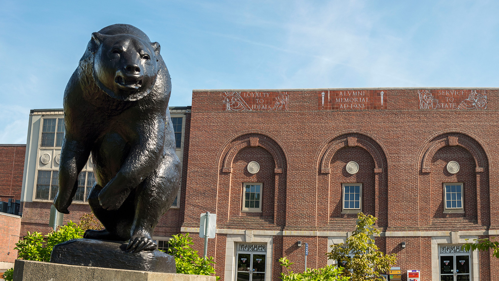
<path fill-rule="evenodd" d="M 380 234 L 373 226 L 376 220 L 371 215 L 359 213 L 353 234 L 345 243 L 331 245 L 331 252 L 326 254 L 329 260 L 336 260 L 344 267 L 342 275 L 351 277 L 352 281 L 383 281 L 381 274 L 388 272 L 397 260 L 395 254 L 380 252 L 374 243 L 374 235 Z"/>

